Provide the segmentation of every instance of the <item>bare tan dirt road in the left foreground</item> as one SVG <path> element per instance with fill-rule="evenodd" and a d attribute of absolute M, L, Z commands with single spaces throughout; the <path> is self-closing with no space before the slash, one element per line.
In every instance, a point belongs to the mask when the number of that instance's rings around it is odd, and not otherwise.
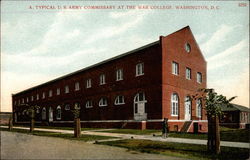
<path fill-rule="evenodd" d="M 0 133 L 1 159 L 181 159 L 76 140 L 7 131 Z"/>

